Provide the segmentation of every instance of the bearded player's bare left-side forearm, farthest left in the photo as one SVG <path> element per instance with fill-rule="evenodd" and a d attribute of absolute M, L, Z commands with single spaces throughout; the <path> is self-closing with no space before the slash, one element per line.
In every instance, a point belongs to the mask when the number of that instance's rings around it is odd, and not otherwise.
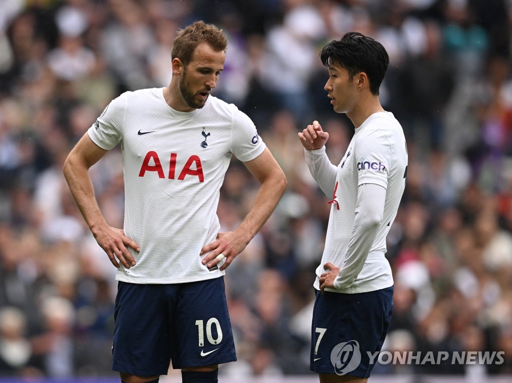
<path fill-rule="evenodd" d="M 96 202 L 89 168 L 70 155 L 63 166 L 63 173 L 83 219 L 95 234 L 106 221 Z"/>

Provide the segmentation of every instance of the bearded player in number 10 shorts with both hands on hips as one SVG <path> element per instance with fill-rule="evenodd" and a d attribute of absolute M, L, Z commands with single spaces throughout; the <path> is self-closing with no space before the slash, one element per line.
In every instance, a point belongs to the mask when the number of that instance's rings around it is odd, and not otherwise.
<path fill-rule="evenodd" d="M 117 267 L 112 369 L 124 383 L 156 383 L 170 361 L 183 382 L 216 382 L 218 365 L 236 361 L 223 276 L 278 204 L 286 178 L 252 121 L 210 96 L 226 46 L 214 25 L 181 29 L 169 86 L 114 99 L 64 165 L 78 208 Z M 88 172 L 119 143 L 124 230 L 105 221 Z M 219 233 L 232 155 L 260 188 L 240 226 Z"/>

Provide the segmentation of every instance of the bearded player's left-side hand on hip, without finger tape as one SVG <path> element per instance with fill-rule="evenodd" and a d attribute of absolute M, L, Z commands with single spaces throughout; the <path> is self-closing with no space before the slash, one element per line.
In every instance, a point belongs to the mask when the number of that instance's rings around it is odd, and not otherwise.
<path fill-rule="evenodd" d="M 140 246 L 133 239 L 126 237 L 124 231 L 107 226 L 95 233 L 94 237 L 114 266 L 119 267 L 119 262 L 126 268 L 135 266 L 135 259 L 127 247 L 140 252 Z"/>

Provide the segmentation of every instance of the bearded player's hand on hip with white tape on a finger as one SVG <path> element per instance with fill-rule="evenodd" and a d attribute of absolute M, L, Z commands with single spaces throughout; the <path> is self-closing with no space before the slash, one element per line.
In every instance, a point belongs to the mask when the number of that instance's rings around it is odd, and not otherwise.
<path fill-rule="evenodd" d="M 217 240 L 208 243 L 201 249 L 199 255 L 209 254 L 203 258 L 201 263 L 211 268 L 219 266 L 221 271 L 225 270 L 234 258 L 239 255 L 247 246 L 248 241 L 242 239 L 235 231 L 217 234 Z"/>

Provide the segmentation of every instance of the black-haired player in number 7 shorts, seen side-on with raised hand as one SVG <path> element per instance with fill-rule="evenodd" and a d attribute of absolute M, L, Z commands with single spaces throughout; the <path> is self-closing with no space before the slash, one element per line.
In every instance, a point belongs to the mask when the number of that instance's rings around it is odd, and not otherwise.
<path fill-rule="evenodd" d="M 313 121 L 298 133 L 308 167 L 331 200 L 322 261 L 316 269 L 311 370 L 322 383 L 366 382 L 393 311 L 386 236 L 405 187 L 403 130 L 378 98 L 389 57 L 382 45 L 350 32 L 320 53 L 334 111 L 354 136 L 338 166 L 329 161 L 329 133 Z"/>

